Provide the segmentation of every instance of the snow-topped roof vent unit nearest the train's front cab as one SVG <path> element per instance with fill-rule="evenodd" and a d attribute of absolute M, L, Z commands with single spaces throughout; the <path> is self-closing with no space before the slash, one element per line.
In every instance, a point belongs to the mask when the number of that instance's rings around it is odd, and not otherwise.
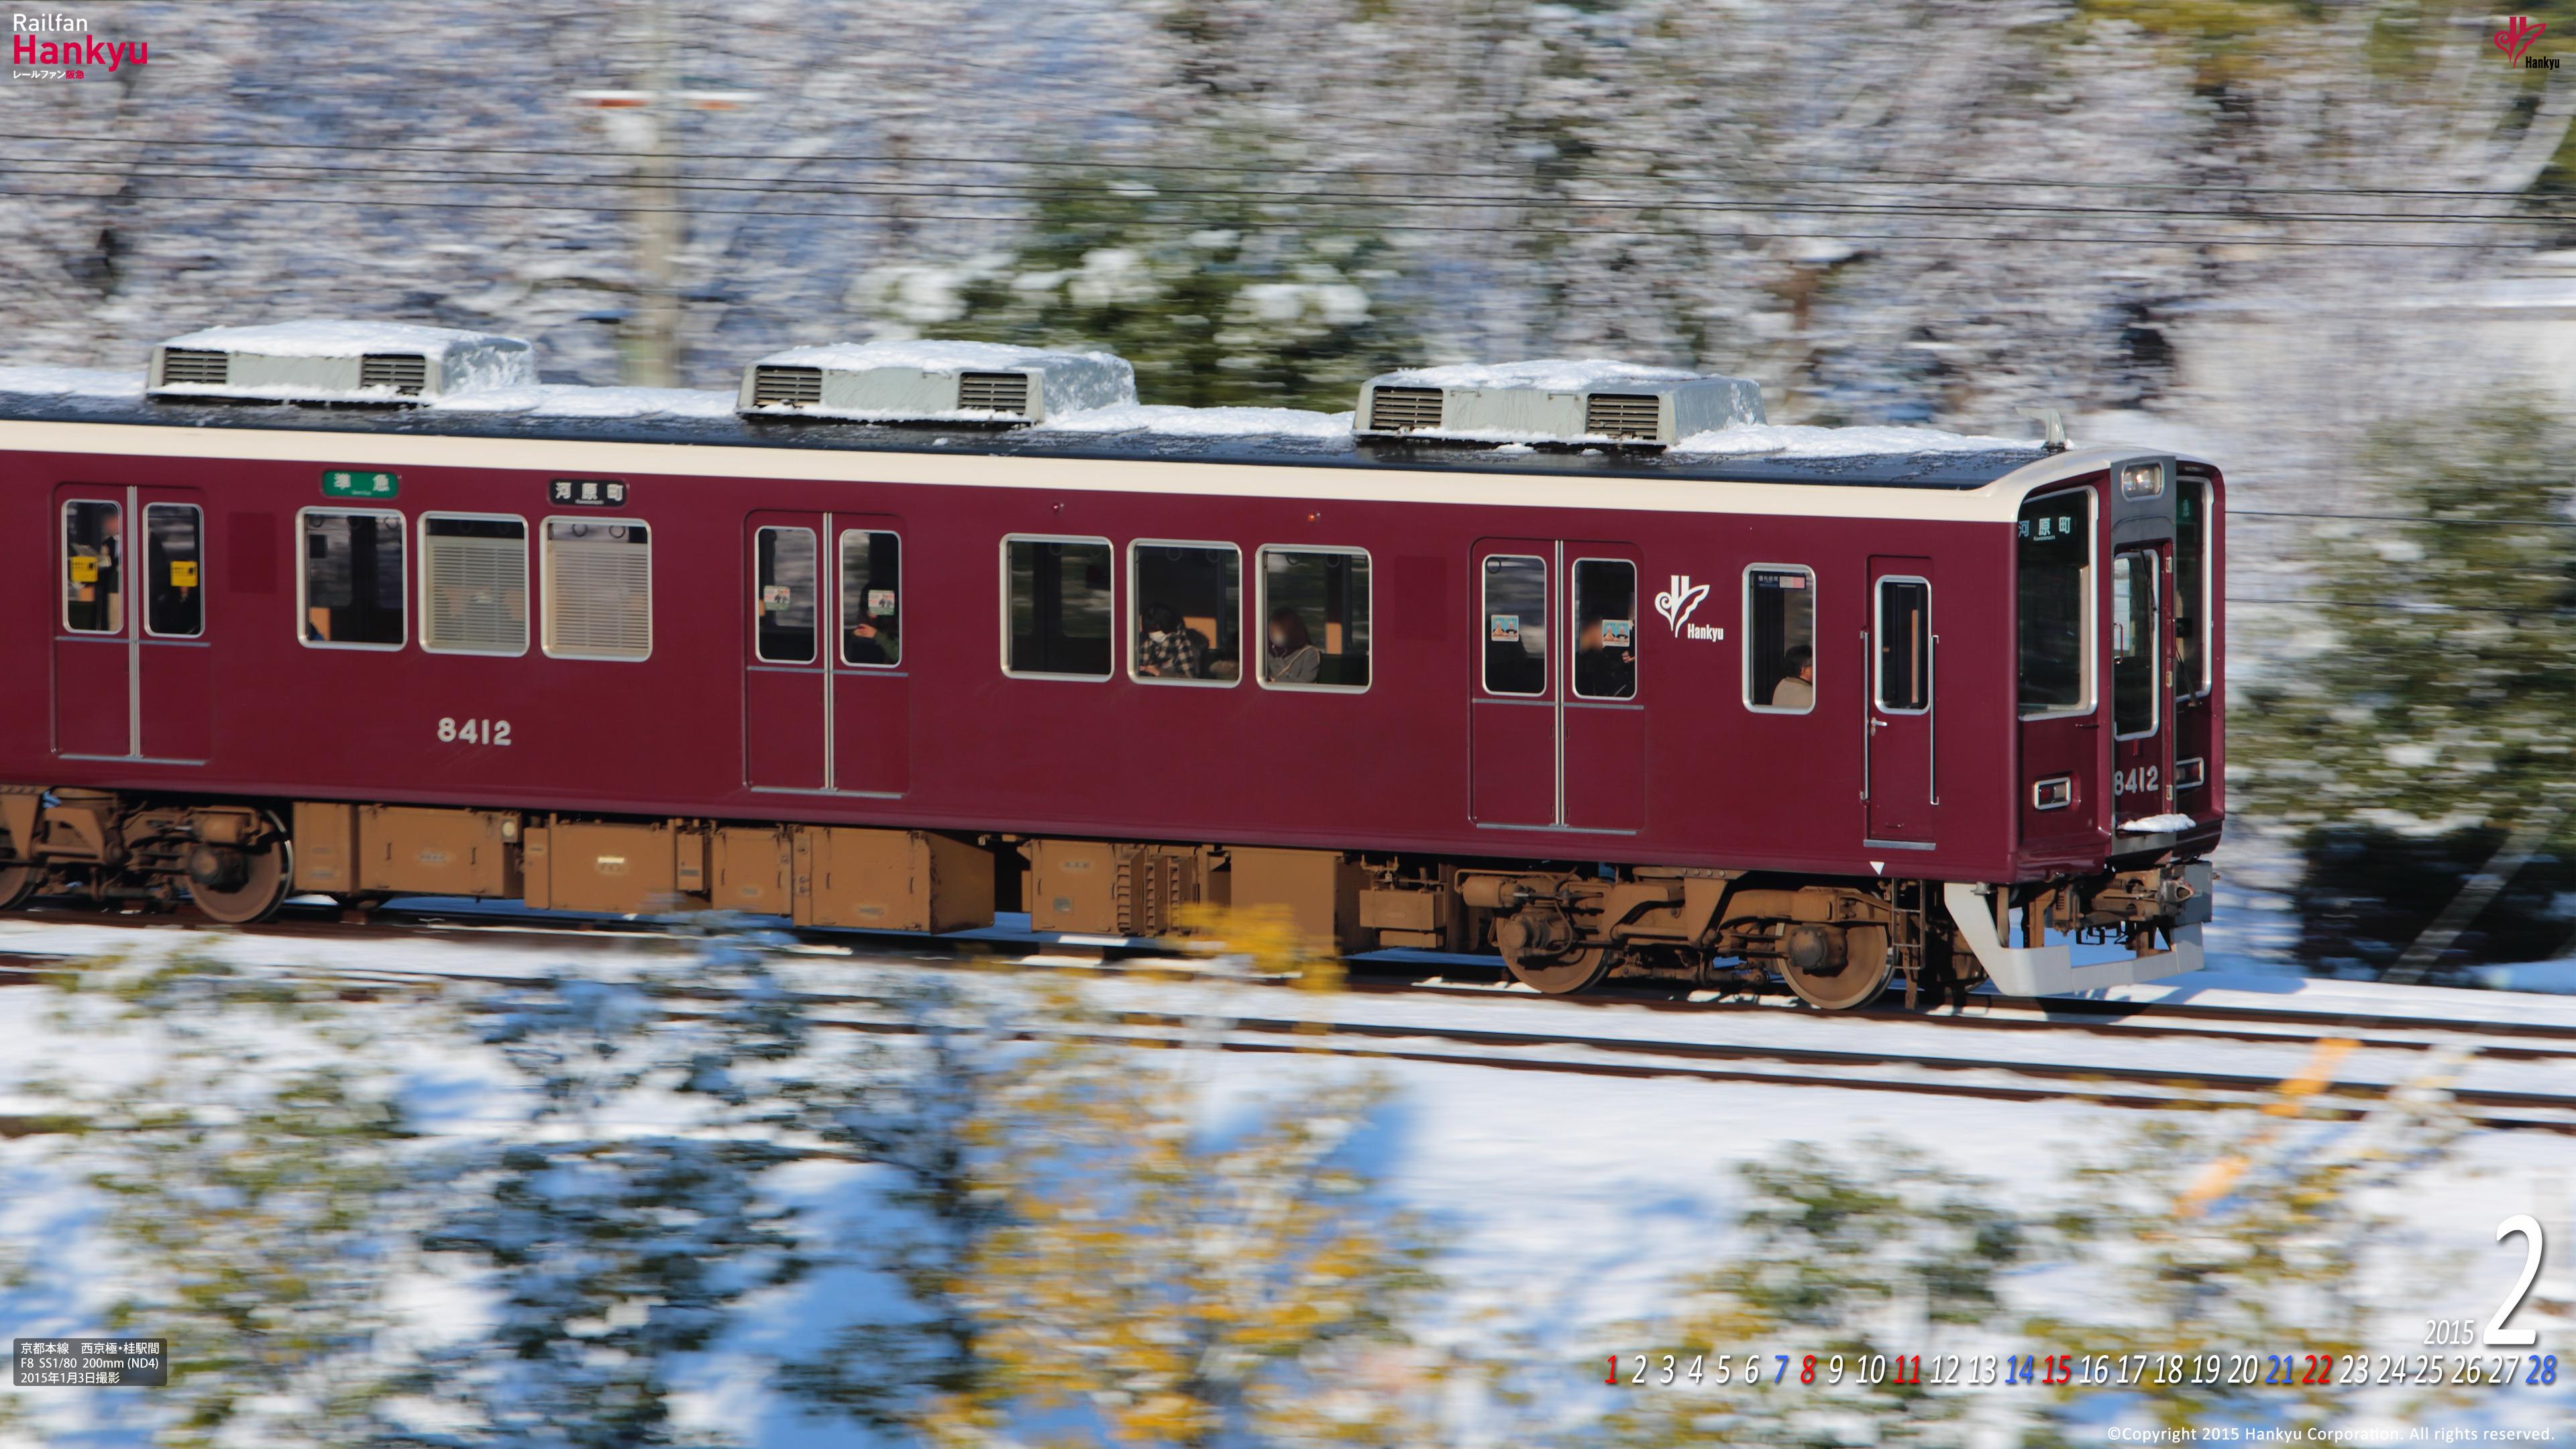
<path fill-rule="evenodd" d="M 1453 364 L 1360 384 L 1363 438 L 1463 443 L 1672 446 L 1728 423 L 1762 423 L 1762 384 L 1620 361 Z"/>

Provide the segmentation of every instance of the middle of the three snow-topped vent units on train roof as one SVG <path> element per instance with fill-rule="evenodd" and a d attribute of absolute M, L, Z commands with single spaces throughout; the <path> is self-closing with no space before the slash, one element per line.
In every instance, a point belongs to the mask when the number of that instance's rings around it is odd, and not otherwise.
<path fill-rule="evenodd" d="M 770 353 L 742 369 L 737 410 L 858 423 L 1043 423 L 1131 402 L 1136 369 L 1113 353 L 920 340 Z"/>

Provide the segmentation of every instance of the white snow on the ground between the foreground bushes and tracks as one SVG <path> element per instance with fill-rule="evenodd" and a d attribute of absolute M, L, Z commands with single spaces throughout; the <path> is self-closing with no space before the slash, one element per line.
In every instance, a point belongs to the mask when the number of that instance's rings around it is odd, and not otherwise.
<path fill-rule="evenodd" d="M 0 923 L 5 951 L 126 951 L 134 959 L 173 951 L 204 951 L 234 964 L 312 962 L 337 969 L 433 969 L 482 977 L 533 977 L 549 969 L 595 972 L 616 967 L 639 949 L 623 941 L 567 938 L 562 944 L 531 936 L 477 936 L 461 931 L 446 938 L 355 938 L 355 936 L 242 936 L 234 931 L 126 928 L 80 923 Z M 788 957 L 783 969 L 796 985 L 832 982 L 863 987 L 878 967 L 853 964 L 829 954 Z M 894 967 L 904 969 L 904 967 Z M 1007 980 L 999 982 L 1007 990 Z M 1347 1016 L 1425 1024 L 1476 1024 L 1515 1031 L 1579 1024 L 1592 1034 L 1636 1034 L 1674 1039 L 1692 1031 L 1682 1013 L 1605 1011 L 1571 1003 L 1497 998 L 1311 998 L 1231 982 L 1151 982 L 1113 977 L 1092 987 L 1100 1006 L 1164 1008 L 1188 1016 L 1288 1016 L 1301 1008 Z M 2388 1013 L 2411 1003 L 2414 1013 L 2481 1021 L 2568 1018 L 2571 1003 L 2535 1003 L 2504 993 L 2437 987 L 2370 987 L 2367 982 L 2303 982 L 2246 975 L 2202 975 L 2123 987 L 2115 995 L 2202 1003 L 2293 1003 L 2300 1011 Z M 479 1049 L 430 1031 L 404 1031 L 402 1018 L 417 1011 L 404 1003 L 355 1006 L 353 1013 L 389 1031 L 384 1067 L 404 1078 L 404 1101 L 420 1127 L 438 1137 L 495 1132 L 515 1114 L 507 1073 Z M 1860 1024 L 1814 1013 L 1713 1013 L 1728 1031 L 1757 1031 L 1790 1044 L 1844 1039 L 1868 1049 L 1940 1049 L 1958 1029 L 1940 1024 Z M 1991 1042 L 1976 1034 L 1978 1049 Z M 2002 1036 L 2002 1034 L 1994 1034 Z M 2045 1034 L 2035 1049 L 2045 1052 Z M 270 1049 L 291 1049 L 286 1029 Z M 2092 1047 L 2087 1047 L 2092 1049 Z M 2262 1067 L 2306 1057 L 2303 1047 L 2262 1044 L 2174 1044 L 2174 1057 L 2192 1067 Z M 1157 1055 L 1172 1062 L 1175 1055 Z M 2125 1140 L 2146 1116 L 2138 1111 L 2084 1104 L 1991 1104 L 1891 1091 L 1837 1091 L 1772 1083 L 1710 1083 L 1690 1078 L 1584 1078 L 1561 1073 L 1502 1073 L 1440 1062 L 1365 1062 L 1298 1055 L 1216 1055 L 1177 1057 L 1203 1091 L 1203 1122 L 1229 1132 L 1262 1109 L 1293 1109 L 1327 1080 L 1345 1073 L 1381 1073 L 1394 1096 L 1358 1140 L 1358 1165 L 1378 1178 L 1383 1196 L 1417 1214 L 1427 1238 L 1440 1245 L 1435 1271 L 1448 1294 L 1419 1325 L 1427 1351 L 1450 1346 L 1494 1351 L 1504 1333 L 1528 1336 L 1538 1361 L 1520 1387 L 1530 1387 L 1553 1413 L 1582 1418 L 1618 1403 L 1618 1392 L 1577 1374 L 1577 1366 L 1602 1354 L 1633 1346 L 1631 1323 L 1672 1310 L 1674 1287 L 1726 1258 L 1736 1243 L 1736 1214 L 1744 1207 L 1734 1165 L 1780 1150 L 1808 1145 L 1816 1163 L 1862 1165 L 1873 1142 L 1896 1140 L 1935 1160 L 1981 1176 L 2004 1201 L 2040 1209 L 2066 1194 L 2066 1165 L 2105 1152 Z M 75 1070 L 93 1085 L 134 1080 L 155 1062 L 139 1039 L 64 1036 L 52 1018 L 49 993 L 0 990 L 0 1109 L 23 1109 L 23 1083 L 36 1073 Z M 2566 1073 L 2563 1065 L 2550 1067 Z M 639 1122 L 652 1129 L 652 1122 Z M 2321 1127 L 2321 1132 L 2334 1132 Z M 0 1243 L 41 1243 L 44 1271 L 31 1271 L 0 1287 L 0 1310 L 13 1333 L 77 1333 L 98 1328 L 98 1315 L 113 1299 L 111 1279 L 85 1271 L 57 1271 L 64 1263 L 100 1263 L 95 1240 L 95 1194 L 82 1186 L 85 1158 L 64 1137 L 0 1140 Z M 2494 1225 L 2512 1212 L 2535 1212 L 2550 1230 L 2563 1230 L 2563 1189 L 2576 1181 L 2576 1140 L 2558 1134 L 2473 1134 L 2455 1160 L 2429 1176 L 2414 1176 L 2391 1194 L 2403 1230 L 2388 1269 L 2393 1281 L 2378 1284 L 2378 1302 L 2391 1305 L 2378 1351 L 2409 1351 L 2421 1338 L 2424 1318 L 2486 1318 L 2519 1269 L 2519 1243 L 2496 1245 Z M 873 1168 L 848 1163 L 804 1163 L 773 1178 L 786 1201 L 806 1209 L 819 1227 L 868 1230 L 889 1212 L 878 1199 Z M 2115 1253 L 2107 1245 L 2105 1253 Z M 2063 1310 L 2102 1312 L 2107 1261 L 2061 1263 L 2017 1271 L 2009 1279 L 2014 1312 Z M 765 1374 L 778 1356 L 793 1356 L 819 1343 L 853 1310 L 884 1305 L 889 1287 L 863 1274 L 835 1269 L 804 1284 L 757 1299 L 739 1328 L 683 1374 L 683 1408 L 701 1423 L 721 1423 L 762 1449 L 822 1449 L 866 1444 L 837 1421 L 806 1418 L 796 1403 L 773 1395 Z M 2558 1269 L 2543 1281 L 2543 1299 L 2568 1297 Z M 448 1338 L 471 1333 L 484 1315 L 469 1284 L 407 1279 L 402 1302 L 417 1315 L 415 1333 Z M 2537 1305 L 2524 1307 L 2527 1323 L 2558 1343 L 2553 1320 Z M 147 1330 L 149 1325 L 144 1325 Z M 1726 1351 L 1798 1351 L 1798 1343 L 1710 1346 Z M 2032 1346 L 1978 1333 L 1947 1333 L 1927 1351 L 2081 1351 L 2076 1343 Z M 2264 1351 L 2259 1343 L 2213 1343 L 2226 1351 Z M 2442 1410 L 2437 1423 L 2548 1426 L 2563 1423 L 2576 1385 L 2553 1392 L 2517 1390 L 2481 1395 L 2478 1408 Z M 2025 1397 L 1986 1392 L 1976 1415 L 1989 1434 L 2007 1434 Z M 142 1444 L 139 1426 L 126 1418 L 126 1403 L 108 1395 L 21 1395 L 33 1421 L 0 1428 L 0 1444 L 46 1444 L 49 1449 L 129 1449 Z M 15 1439 L 13 1439 L 15 1434 Z M 1476 1444 L 1473 1423 L 1458 1441 Z M 1486 1439 L 1502 1441 L 1502 1439 Z M 2009 1441 L 2009 1439 L 1994 1439 Z"/>

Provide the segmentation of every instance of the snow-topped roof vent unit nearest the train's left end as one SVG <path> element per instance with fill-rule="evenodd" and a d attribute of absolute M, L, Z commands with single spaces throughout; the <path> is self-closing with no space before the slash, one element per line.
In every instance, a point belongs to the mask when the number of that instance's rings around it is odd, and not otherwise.
<path fill-rule="evenodd" d="M 206 327 L 152 348 L 152 397 L 430 402 L 536 382 L 518 338 L 410 322 Z"/>

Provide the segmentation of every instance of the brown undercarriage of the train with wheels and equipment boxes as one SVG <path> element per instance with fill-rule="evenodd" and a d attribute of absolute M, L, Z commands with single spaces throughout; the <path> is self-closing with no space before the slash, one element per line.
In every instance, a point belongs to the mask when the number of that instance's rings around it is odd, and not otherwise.
<path fill-rule="evenodd" d="M 2197 967 L 2210 866 L 2164 853 L 2115 864 L 2020 884 L 1692 866 L 1605 874 L 1262 846 L 0 786 L 0 910 L 52 895 L 98 908 L 193 905 L 247 923 L 296 892 L 350 905 L 446 895 L 933 933 L 1028 910 L 1038 931 L 1151 938 L 1185 933 L 1193 905 L 1275 905 L 1319 954 L 1494 951 L 1551 995 L 1602 980 L 1762 987 L 1777 977 L 1824 1011 L 1868 1006 L 1891 985 L 1909 1006 L 1937 1006 L 1989 977 L 2009 995 L 2045 995 Z M 2066 941 L 2120 944 L 2130 957 L 2074 967 Z"/>

